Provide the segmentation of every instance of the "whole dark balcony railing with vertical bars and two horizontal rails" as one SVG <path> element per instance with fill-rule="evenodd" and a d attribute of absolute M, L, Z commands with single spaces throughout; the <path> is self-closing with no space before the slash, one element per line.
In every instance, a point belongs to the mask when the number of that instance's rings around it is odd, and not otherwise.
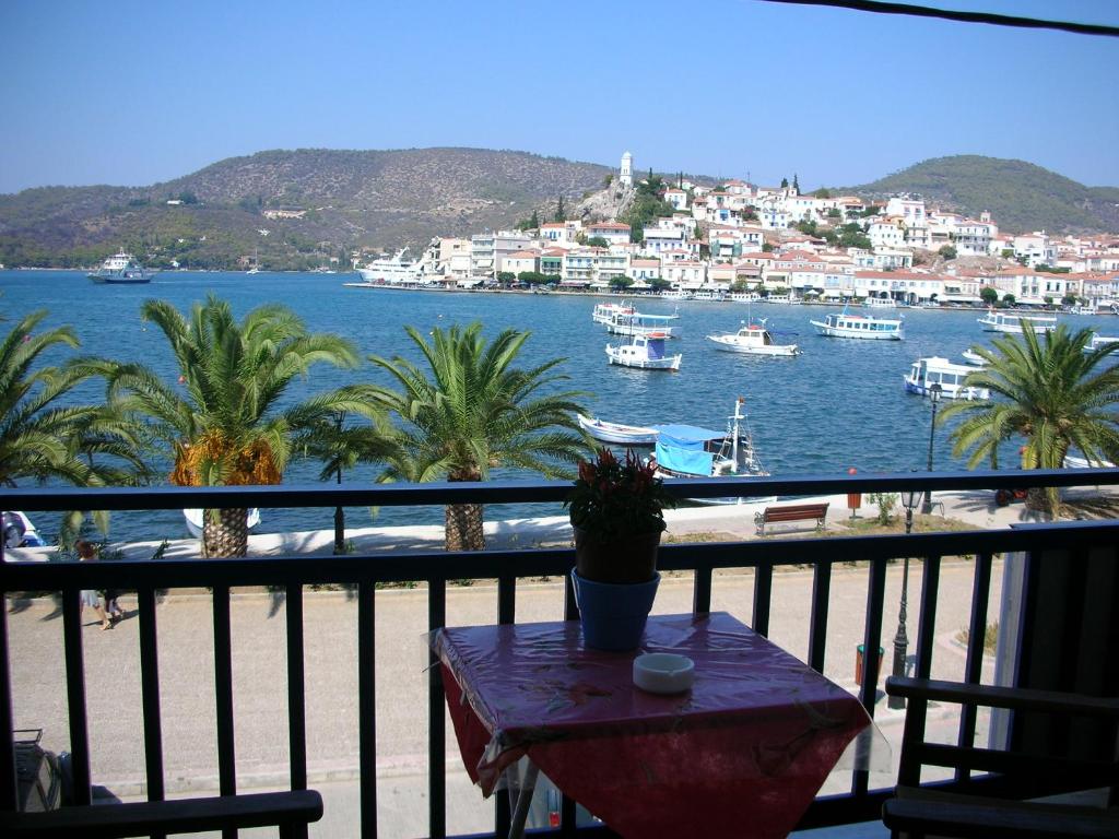
<path fill-rule="evenodd" d="M 846 492 L 899 492 L 920 490 L 996 490 L 1022 486 L 1022 472 L 923 473 L 877 477 L 808 477 L 796 479 L 724 479 L 674 484 L 671 491 L 688 498 L 716 498 L 732 494 L 749 497 L 826 496 Z M 1119 470 L 1064 470 L 1031 472 L 1029 483 L 1041 487 L 1115 487 Z M 489 482 L 480 484 L 438 483 L 395 484 L 360 489 L 314 487 L 264 487 L 215 489 L 103 489 L 103 490 L 4 490 L 0 509 L 169 509 L 184 507 L 333 508 L 336 506 L 411 507 L 452 502 L 524 503 L 558 502 L 568 491 L 561 482 Z M 991 493 L 993 497 L 993 493 Z M 783 566 L 810 568 L 812 583 L 807 633 L 807 661 L 822 671 L 828 639 L 833 569 L 840 563 L 858 562 L 866 573 L 862 639 L 864 649 L 874 650 L 884 635 L 886 615 L 886 573 L 888 564 L 902 557 L 921 557 L 920 601 L 913 609 L 916 677 L 930 676 L 934 633 L 937 632 L 938 592 L 941 557 L 975 557 L 972 598 L 967 640 L 965 680 L 978 682 L 984 656 L 984 635 L 989 615 L 991 568 L 997 554 L 1061 549 L 1073 558 L 1084 557 L 1090 548 L 1119 544 L 1119 522 L 1074 521 L 1029 525 L 1025 528 L 921 532 L 873 537 L 833 536 L 828 538 L 782 539 L 737 543 L 665 545 L 658 566 L 664 571 L 692 573 L 694 612 L 712 607 L 717 569 L 753 571 L 752 626 L 768 634 L 773 595 L 774 571 Z M 2 550 L 2 548 L 0 548 Z M 303 595 L 305 586 L 345 584 L 354 586 L 357 601 L 357 705 L 360 835 L 377 835 L 378 784 L 375 771 L 377 718 L 374 698 L 377 669 L 374 626 L 374 592 L 380 584 L 425 583 L 427 628 L 435 630 L 446 621 L 448 584 L 461 578 L 497 579 L 496 612 L 499 623 L 511 623 L 517 613 L 518 579 L 563 576 L 573 565 L 572 550 L 527 549 L 485 553 L 385 553 L 345 556 L 282 556 L 244 559 L 161 559 L 154 562 L 112 563 L 4 563 L 0 565 L 0 591 L 3 595 L 27 591 L 60 592 L 66 671 L 66 704 L 69 719 L 69 746 L 73 754 L 74 799 L 91 802 L 90 720 L 86 710 L 84 639 L 79 620 L 79 592 L 86 588 L 117 588 L 137 592 L 139 604 L 139 664 L 141 715 L 147 794 L 160 801 L 167 791 L 160 705 L 159 633 L 156 621 L 157 593 L 162 590 L 206 587 L 213 592 L 213 632 L 215 668 L 215 714 L 218 785 L 223 795 L 237 792 L 234 752 L 233 656 L 231 647 L 231 588 L 270 586 L 285 595 L 285 645 L 288 685 L 289 783 L 293 790 L 307 789 L 308 750 L 304 677 Z M 565 584 L 564 611 L 577 616 L 570 581 Z M 850 618 L 845 615 L 845 618 Z M 9 658 L 9 619 L 0 615 L 0 728 L 11 732 L 12 680 Z M 882 662 L 868 657 L 859 699 L 873 716 L 876 709 L 877 670 Z M 427 767 L 429 836 L 446 835 L 445 753 L 446 732 L 444 695 L 439 668 L 427 673 Z M 975 736 L 976 719 L 963 715 L 958 737 Z M 866 771 L 853 771 L 847 792 L 818 798 L 805 816 L 801 827 L 841 824 L 877 818 L 888 789 L 869 789 Z M 13 743 L 0 737 L 0 810 L 16 805 Z M 576 829 L 575 805 L 565 800 L 562 836 L 603 830 Z M 508 829 L 509 811 L 498 796 L 495 836 Z"/>

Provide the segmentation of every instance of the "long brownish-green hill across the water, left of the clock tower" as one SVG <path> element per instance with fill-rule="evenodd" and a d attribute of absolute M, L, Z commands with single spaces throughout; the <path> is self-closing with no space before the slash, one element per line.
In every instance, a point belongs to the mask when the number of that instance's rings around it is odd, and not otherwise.
<path fill-rule="evenodd" d="M 359 247 L 509 227 L 561 195 L 573 204 L 609 171 L 486 149 L 265 151 L 150 187 L 0 196 L 0 263 L 93 265 L 125 248 L 154 265 L 236 267 L 254 253 L 262 267 L 348 265 Z M 302 217 L 265 217 L 280 208 Z"/>

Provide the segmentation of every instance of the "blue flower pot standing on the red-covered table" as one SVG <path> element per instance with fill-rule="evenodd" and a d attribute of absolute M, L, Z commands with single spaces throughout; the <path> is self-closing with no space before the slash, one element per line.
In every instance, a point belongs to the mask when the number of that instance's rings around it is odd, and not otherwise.
<path fill-rule="evenodd" d="M 645 583 L 595 583 L 572 568 L 571 581 L 583 625 L 583 643 L 595 650 L 636 650 L 657 596 L 660 574 L 655 573 Z"/>

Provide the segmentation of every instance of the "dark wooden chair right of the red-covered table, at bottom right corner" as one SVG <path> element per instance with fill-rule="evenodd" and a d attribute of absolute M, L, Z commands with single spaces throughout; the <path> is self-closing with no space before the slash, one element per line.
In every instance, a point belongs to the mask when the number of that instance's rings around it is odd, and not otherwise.
<path fill-rule="evenodd" d="M 1119 837 L 1119 808 L 1115 807 L 1119 802 L 1115 750 L 1119 699 L 895 677 L 886 679 L 886 694 L 909 700 L 896 798 L 882 808 L 882 820 L 894 837 Z M 1102 751 L 1110 757 L 1054 754 L 1062 750 L 1040 754 L 1017 746 L 998 751 L 971 743 L 929 743 L 929 703 L 959 704 L 969 715 L 974 710 L 968 709 L 977 707 L 1029 713 L 1034 720 L 1055 720 L 1065 733 L 1065 743 L 1071 720 L 1092 720 L 1107 732 L 1109 741 Z M 956 780 L 922 788 L 922 766 L 952 767 Z M 1088 790 L 1102 790 L 1100 796 L 1107 796 L 1107 805 L 1036 800 Z"/>

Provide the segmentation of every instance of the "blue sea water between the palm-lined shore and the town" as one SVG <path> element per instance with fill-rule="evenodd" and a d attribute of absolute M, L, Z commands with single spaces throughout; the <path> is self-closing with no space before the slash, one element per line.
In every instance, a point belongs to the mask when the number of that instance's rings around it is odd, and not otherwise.
<path fill-rule="evenodd" d="M 905 318 L 904 341 L 863 341 L 821 338 L 809 324 L 828 311 L 822 305 L 780 305 L 714 302 L 668 302 L 638 299 L 648 313 L 678 310 L 683 338 L 671 342 L 683 352 L 678 374 L 632 370 L 606 364 L 604 327 L 591 321 L 600 298 L 561 294 L 440 293 L 346 287 L 356 274 L 194 273 L 159 274 L 147 285 L 96 285 L 84 273 L 68 271 L 0 271 L 0 308 L 10 324 L 28 312 L 46 309 L 45 327 L 70 324 L 81 339 L 82 355 L 143 361 L 169 381 L 178 378 L 162 333 L 140 320 L 140 305 L 152 298 L 167 300 L 184 313 L 207 294 L 228 300 L 239 317 L 262 303 L 283 303 L 297 311 L 314 331 L 332 331 L 352 340 L 363 357 L 403 356 L 421 361 L 404 331 L 414 326 L 427 333 L 435 328 L 481 321 L 486 333 L 527 329 L 532 337 L 521 364 L 535 365 L 561 357 L 564 386 L 585 394 L 589 414 L 631 424 L 689 423 L 715 430 L 726 427 L 734 400 L 745 398 L 754 445 L 762 464 L 773 474 L 859 473 L 924 469 L 928 456 L 930 403 L 903 390 L 902 376 L 923 356 L 943 356 L 962 362 L 960 352 L 988 343 L 975 310 L 900 310 Z M 800 345 L 796 358 L 737 356 L 715 349 L 704 336 L 734 331 L 750 314 L 767 318 L 781 342 Z M 1072 327 L 1091 326 L 1107 333 L 1119 331 L 1111 318 L 1062 315 Z M 62 360 L 59 353 L 53 361 Z M 347 383 L 379 380 L 392 384 L 373 366 L 338 370 L 312 368 L 305 381 L 291 390 L 292 398 Z M 102 396 L 100 389 L 82 394 Z M 961 468 L 953 458 L 948 432 L 935 431 L 938 469 Z M 319 464 L 293 462 L 286 483 L 314 482 Z M 346 483 L 372 480 L 376 466 L 347 473 Z M 524 515 L 555 515 L 556 507 L 500 506 L 488 519 Z M 262 531 L 329 528 L 330 510 L 270 510 Z M 417 524 L 415 510 L 347 510 L 349 527 Z M 442 521 L 442 509 L 423 511 L 422 520 Z M 50 522 L 37 522 L 53 532 Z M 175 512 L 115 513 L 114 539 L 178 538 L 181 518 Z"/>

